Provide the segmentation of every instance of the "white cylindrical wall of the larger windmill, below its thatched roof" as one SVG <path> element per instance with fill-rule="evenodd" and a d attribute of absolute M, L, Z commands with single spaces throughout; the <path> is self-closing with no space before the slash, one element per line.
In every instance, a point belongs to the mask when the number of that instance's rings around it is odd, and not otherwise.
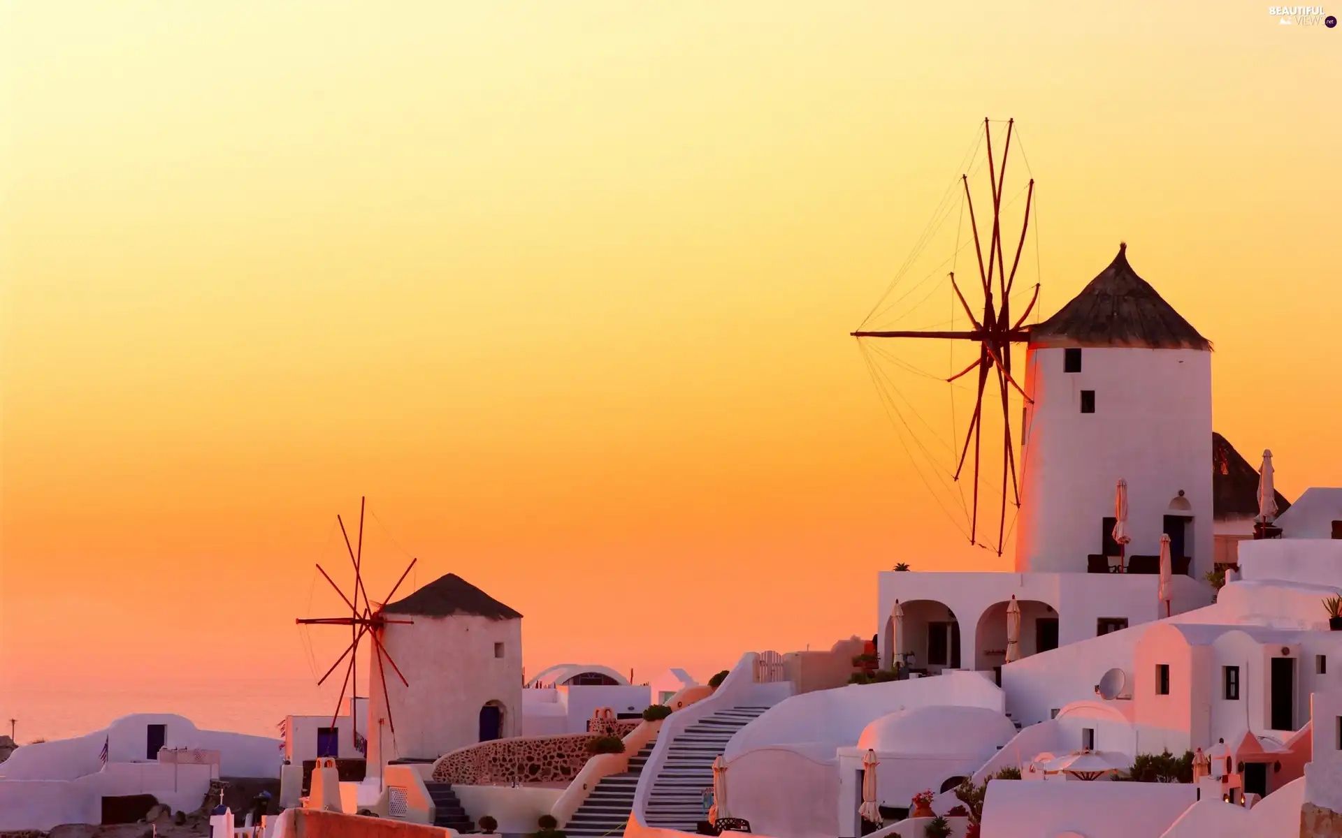
<path fill-rule="evenodd" d="M 1184 489 L 1194 523 L 1193 578 L 1212 567 L 1212 354 L 1192 349 L 1084 347 L 1082 371 L 1064 350 L 1031 345 L 1021 449 L 1016 570 L 1086 573 L 1102 519 L 1127 481 L 1129 555 L 1158 555 L 1164 516 Z M 1080 412 L 1080 392 L 1095 412 Z"/>

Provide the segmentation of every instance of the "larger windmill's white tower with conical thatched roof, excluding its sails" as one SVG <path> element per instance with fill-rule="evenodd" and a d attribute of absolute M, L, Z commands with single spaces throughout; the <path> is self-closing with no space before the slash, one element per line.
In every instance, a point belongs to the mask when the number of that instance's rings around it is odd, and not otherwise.
<path fill-rule="evenodd" d="M 1169 532 L 1176 566 L 1182 555 L 1194 578 L 1212 568 L 1212 346 L 1133 271 L 1126 245 L 1031 330 L 1025 392 L 1017 571 L 1111 563 L 1119 480 L 1126 556 L 1159 555 Z"/>

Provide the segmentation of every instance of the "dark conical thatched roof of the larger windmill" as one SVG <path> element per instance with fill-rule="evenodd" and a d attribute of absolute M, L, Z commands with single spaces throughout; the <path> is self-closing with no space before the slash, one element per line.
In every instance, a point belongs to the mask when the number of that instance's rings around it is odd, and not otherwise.
<path fill-rule="evenodd" d="M 1127 245 L 1057 314 L 1029 330 L 1031 343 L 1202 349 L 1212 343 L 1127 264 Z"/>

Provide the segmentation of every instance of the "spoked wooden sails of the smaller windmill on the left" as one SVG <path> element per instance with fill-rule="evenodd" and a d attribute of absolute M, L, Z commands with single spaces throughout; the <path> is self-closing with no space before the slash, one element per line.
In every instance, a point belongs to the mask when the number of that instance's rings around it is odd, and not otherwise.
<path fill-rule="evenodd" d="M 327 582 L 330 582 L 330 586 L 336 589 L 336 593 L 340 594 L 340 598 L 345 601 L 345 605 L 349 606 L 350 611 L 349 617 L 299 618 L 297 622 L 301 626 L 318 625 L 318 626 L 350 627 L 349 646 L 338 658 L 336 658 L 336 662 L 331 664 L 331 668 L 326 670 L 326 674 L 323 674 L 317 681 L 317 685 L 321 686 L 323 682 L 326 682 L 326 678 L 329 678 L 331 673 L 334 673 L 336 669 L 340 668 L 340 665 L 345 661 L 345 658 L 346 657 L 349 658 L 349 665 L 345 669 L 345 681 L 341 685 L 340 691 L 340 699 L 336 701 L 336 713 L 333 713 L 331 716 L 331 727 L 336 727 L 336 719 L 340 716 L 341 704 L 345 703 L 345 691 L 352 686 L 350 681 L 353 681 L 353 686 L 356 688 L 353 695 L 356 696 L 358 695 L 357 691 L 358 676 L 356 669 L 356 662 L 358 660 L 358 644 L 362 642 L 364 636 L 368 634 L 373 645 L 373 654 L 377 658 L 378 680 L 382 682 L 382 700 L 386 701 L 386 724 L 392 732 L 392 736 L 396 736 L 396 724 L 392 721 L 392 705 L 386 696 L 386 665 L 391 665 L 392 670 L 396 672 L 396 677 L 401 680 L 401 684 L 409 686 L 409 681 L 405 680 L 405 676 L 401 674 L 401 670 L 396 665 L 396 661 L 393 661 L 392 656 L 386 652 L 386 646 L 382 644 L 382 637 L 385 636 L 388 623 L 412 625 L 413 621 L 388 619 L 382 614 L 382 606 L 385 606 L 388 602 L 392 601 L 392 597 L 396 595 L 396 590 L 400 589 L 401 582 L 405 581 L 405 577 L 409 575 L 411 568 L 415 567 L 415 563 L 419 562 L 419 559 L 411 559 L 411 563 L 405 567 L 405 573 L 401 574 L 401 578 L 397 579 L 396 585 L 392 586 L 392 591 L 386 594 L 386 597 L 381 602 L 373 602 L 372 599 L 368 598 L 368 591 L 364 590 L 364 577 L 361 573 L 361 566 L 364 560 L 364 507 L 366 501 L 368 501 L 366 497 L 360 497 L 358 500 L 358 540 L 356 542 L 357 547 L 349 543 L 349 531 L 345 530 L 345 522 L 341 519 L 340 515 L 336 516 L 336 522 L 340 524 L 341 535 L 345 536 L 345 550 L 349 551 L 349 560 L 353 562 L 354 564 L 354 586 L 352 590 L 352 595 L 346 597 L 345 591 L 342 591 L 340 586 L 336 585 L 336 582 L 330 578 L 330 574 L 322 570 L 321 564 L 317 566 L 317 570 L 322 574 L 322 577 L 326 578 Z M 362 602 L 360 601 L 360 598 L 362 598 Z M 372 686 L 373 686 L 372 668 L 369 668 L 369 689 L 372 689 Z"/>

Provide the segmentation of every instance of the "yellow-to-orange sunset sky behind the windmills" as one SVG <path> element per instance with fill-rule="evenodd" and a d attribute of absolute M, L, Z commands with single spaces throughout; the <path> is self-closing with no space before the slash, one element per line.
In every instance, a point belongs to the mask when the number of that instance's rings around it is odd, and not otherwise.
<path fill-rule="evenodd" d="M 338 638 L 294 618 L 337 613 L 313 564 L 348 582 L 360 495 L 374 598 L 408 554 L 455 571 L 526 615 L 529 673 L 707 677 L 871 636 L 894 562 L 1008 568 L 848 337 L 985 115 L 1039 180 L 1043 312 L 1126 240 L 1216 345 L 1216 429 L 1288 497 L 1342 479 L 1342 29 L 1239 0 L 0 15 L 0 716 L 32 735 L 333 704 Z M 256 685 L 220 709 L 228 676 Z"/>

